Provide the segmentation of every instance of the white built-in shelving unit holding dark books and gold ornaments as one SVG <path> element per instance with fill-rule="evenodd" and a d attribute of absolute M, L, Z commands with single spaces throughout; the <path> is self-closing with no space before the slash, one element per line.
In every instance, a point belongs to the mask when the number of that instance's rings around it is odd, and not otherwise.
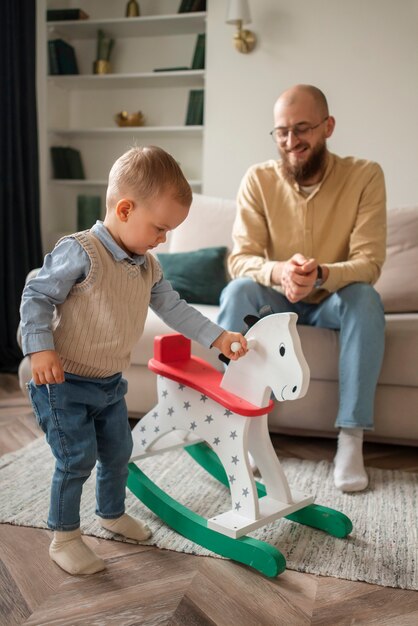
<path fill-rule="evenodd" d="M 40 124 L 45 248 L 50 248 L 58 235 L 76 229 L 78 194 L 100 195 L 104 215 L 109 169 L 132 145 L 154 144 L 168 150 L 179 161 L 192 189 L 201 191 L 204 127 L 187 126 L 185 121 L 189 91 L 204 89 L 205 70 L 153 70 L 191 67 L 197 35 L 206 30 L 206 13 L 176 13 L 179 0 L 153 0 L 145 9 L 155 14 L 135 18 L 120 17 L 126 5 L 121 0 L 78 4 L 40 0 L 40 4 L 38 17 L 42 16 L 43 23 L 38 33 L 45 52 L 39 62 L 38 86 L 43 93 L 38 94 L 38 106 L 44 102 L 46 113 L 46 122 Z M 81 6 L 91 17 L 45 22 L 47 8 L 72 6 Z M 115 39 L 109 74 L 92 73 L 99 29 Z M 47 42 L 55 38 L 74 47 L 79 74 L 48 75 Z M 120 111 L 142 111 L 145 125 L 118 127 L 114 117 Z M 80 150 L 85 180 L 52 177 L 49 149 L 53 145 Z"/>

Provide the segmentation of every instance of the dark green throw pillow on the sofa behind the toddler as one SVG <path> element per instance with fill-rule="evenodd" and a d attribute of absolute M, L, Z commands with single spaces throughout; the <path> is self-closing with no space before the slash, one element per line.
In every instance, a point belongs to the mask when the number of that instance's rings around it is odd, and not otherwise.
<path fill-rule="evenodd" d="M 180 297 L 193 304 L 219 304 L 227 283 L 226 247 L 201 248 L 193 252 L 157 254 L 164 278 Z"/>

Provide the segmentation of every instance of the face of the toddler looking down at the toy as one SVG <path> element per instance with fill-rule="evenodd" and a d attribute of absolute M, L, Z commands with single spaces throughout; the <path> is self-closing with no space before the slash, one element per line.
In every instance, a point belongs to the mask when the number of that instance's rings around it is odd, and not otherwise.
<path fill-rule="evenodd" d="M 145 254 L 166 240 L 167 233 L 187 217 L 189 207 L 180 204 L 171 192 L 135 202 L 128 219 L 120 228 L 120 243 L 128 254 Z"/>

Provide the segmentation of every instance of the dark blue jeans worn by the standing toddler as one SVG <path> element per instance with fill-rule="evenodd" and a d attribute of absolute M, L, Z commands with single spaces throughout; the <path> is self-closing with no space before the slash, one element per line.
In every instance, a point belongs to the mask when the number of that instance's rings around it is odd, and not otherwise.
<path fill-rule="evenodd" d="M 132 436 L 121 374 L 83 378 L 65 374 L 59 385 L 28 385 L 36 418 L 56 459 L 48 526 L 80 526 L 83 484 L 97 461 L 96 513 L 115 519 L 125 512 Z"/>

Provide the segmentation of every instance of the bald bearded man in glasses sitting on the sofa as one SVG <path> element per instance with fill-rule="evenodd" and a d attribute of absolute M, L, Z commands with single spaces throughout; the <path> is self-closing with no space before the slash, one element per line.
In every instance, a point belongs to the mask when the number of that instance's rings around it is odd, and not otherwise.
<path fill-rule="evenodd" d="M 335 128 L 324 94 L 296 85 L 274 105 L 280 160 L 252 166 L 237 197 L 219 324 L 294 311 L 298 323 L 340 331 L 339 429 L 334 481 L 361 491 L 363 431 L 373 429 L 385 320 L 373 284 L 386 249 L 386 196 L 376 163 L 328 151 Z"/>

